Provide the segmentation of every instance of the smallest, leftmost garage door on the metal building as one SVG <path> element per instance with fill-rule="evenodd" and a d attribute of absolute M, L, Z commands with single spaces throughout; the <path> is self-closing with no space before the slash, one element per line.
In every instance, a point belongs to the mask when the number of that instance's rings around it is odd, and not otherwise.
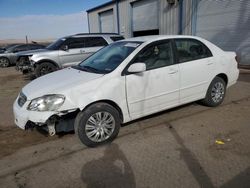
<path fill-rule="evenodd" d="M 100 30 L 103 33 L 114 33 L 114 14 L 113 10 L 108 10 L 99 14 Z"/>

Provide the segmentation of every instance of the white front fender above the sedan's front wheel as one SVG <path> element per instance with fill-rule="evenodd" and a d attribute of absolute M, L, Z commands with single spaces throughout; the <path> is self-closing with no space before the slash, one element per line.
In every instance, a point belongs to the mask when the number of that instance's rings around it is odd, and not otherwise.
<path fill-rule="evenodd" d="M 93 80 L 84 85 L 72 86 L 65 93 L 67 99 L 62 110 L 77 108 L 82 111 L 93 103 L 110 101 L 121 110 L 123 123 L 128 122 L 130 117 L 127 108 L 125 77 L 110 78 L 107 75 L 104 77 L 101 80 Z"/>

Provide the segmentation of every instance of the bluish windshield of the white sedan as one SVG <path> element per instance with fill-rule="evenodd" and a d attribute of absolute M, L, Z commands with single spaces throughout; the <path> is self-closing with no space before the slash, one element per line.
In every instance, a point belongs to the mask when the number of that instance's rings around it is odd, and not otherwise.
<path fill-rule="evenodd" d="M 110 73 L 126 59 L 141 42 L 116 42 L 106 46 L 73 68 L 99 74 Z"/>

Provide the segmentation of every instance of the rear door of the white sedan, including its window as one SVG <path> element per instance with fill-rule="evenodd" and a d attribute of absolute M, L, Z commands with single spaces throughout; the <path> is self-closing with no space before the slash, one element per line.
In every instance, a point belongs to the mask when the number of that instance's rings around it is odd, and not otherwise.
<path fill-rule="evenodd" d="M 176 39 L 175 44 L 180 67 L 180 103 L 204 98 L 214 76 L 211 51 L 196 39 Z"/>

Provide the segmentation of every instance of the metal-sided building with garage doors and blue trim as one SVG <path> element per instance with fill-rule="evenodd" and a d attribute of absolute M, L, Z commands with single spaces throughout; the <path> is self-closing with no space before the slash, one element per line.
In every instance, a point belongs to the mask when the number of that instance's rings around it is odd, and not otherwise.
<path fill-rule="evenodd" d="M 250 64 L 249 0 L 113 0 L 87 12 L 91 33 L 197 35 Z"/>

